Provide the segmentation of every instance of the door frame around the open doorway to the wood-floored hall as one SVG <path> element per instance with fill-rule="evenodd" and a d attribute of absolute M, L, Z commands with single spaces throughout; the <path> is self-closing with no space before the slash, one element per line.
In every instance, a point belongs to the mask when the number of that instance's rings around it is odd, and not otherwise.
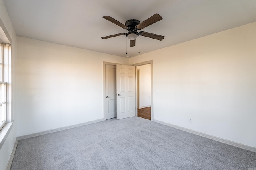
<path fill-rule="evenodd" d="M 146 65 L 146 64 L 150 64 L 150 68 L 151 68 L 151 121 L 154 121 L 154 102 L 153 102 L 153 60 L 150 61 L 144 61 L 141 63 L 136 63 L 136 64 L 132 64 L 133 66 L 136 66 L 136 100 L 138 100 L 138 87 L 137 87 L 137 66 L 142 66 L 142 65 Z M 138 115 L 138 102 L 136 102 L 136 116 Z"/>

